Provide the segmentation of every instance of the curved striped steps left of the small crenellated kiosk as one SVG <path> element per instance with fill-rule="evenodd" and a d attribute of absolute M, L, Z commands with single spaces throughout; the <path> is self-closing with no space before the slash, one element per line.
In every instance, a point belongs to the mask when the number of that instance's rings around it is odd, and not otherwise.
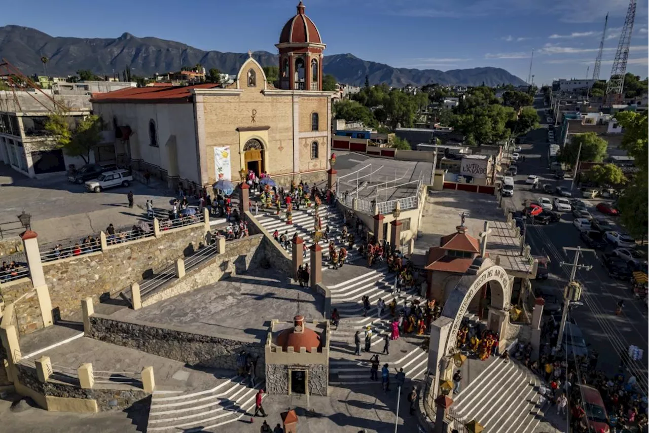
<path fill-rule="evenodd" d="M 208 390 L 154 391 L 147 432 L 216 432 L 223 425 L 251 416 L 260 388 L 263 381 L 249 388 L 236 376 Z"/>

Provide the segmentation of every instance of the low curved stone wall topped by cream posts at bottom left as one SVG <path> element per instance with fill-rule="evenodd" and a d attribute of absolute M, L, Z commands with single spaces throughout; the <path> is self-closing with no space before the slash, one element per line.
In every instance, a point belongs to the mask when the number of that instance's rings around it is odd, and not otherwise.
<path fill-rule="evenodd" d="M 27 365 L 17 364 L 18 380 L 23 386 L 36 391 L 37 393 L 51 397 L 62 397 L 72 399 L 88 399 L 97 401 L 99 411 L 124 410 L 133 404 L 148 397 L 148 393 L 137 388 L 129 390 L 111 390 L 107 388 L 96 388 L 84 390 L 79 386 L 64 384 L 58 381 L 49 380 L 40 382 L 36 375 L 36 369 Z M 121 386 L 123 388 L 123 385 Z"/>

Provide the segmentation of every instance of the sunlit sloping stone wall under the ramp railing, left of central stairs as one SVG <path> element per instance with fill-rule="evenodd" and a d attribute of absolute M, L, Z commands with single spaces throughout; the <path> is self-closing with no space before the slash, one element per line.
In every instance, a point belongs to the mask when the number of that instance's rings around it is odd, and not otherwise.
<path fill-rule="evenodd" d="M 259 267 L 263 262 L 263 249 L 259 248 L 263 235 L 255 234 L 243 239 L 227 241 L 225 253 L 206 260 L 195 269 L 174 280 L 160 291 L 146 297 L 142 306 L 149 306 L 164 299 L 187 293 L 188 291 L 212 284 L 231 275 L 245 273 L 251 267 Z"/>

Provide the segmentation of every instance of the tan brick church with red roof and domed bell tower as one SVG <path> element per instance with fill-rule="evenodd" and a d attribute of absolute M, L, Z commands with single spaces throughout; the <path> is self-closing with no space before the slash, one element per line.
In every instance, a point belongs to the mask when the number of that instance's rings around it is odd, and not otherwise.
<path fill-rule="evenodd" d="M 171 187 L 238 182 L 241 169 L 278 184 L 326 178 L 332 92 L 323 92 L 324 43 L 300 1 L 275 46 L 271 83 L 248 53 L 228 86 L 153 86 L 93 95 L 93 112 L 114 141 L 116 160 Z"/>

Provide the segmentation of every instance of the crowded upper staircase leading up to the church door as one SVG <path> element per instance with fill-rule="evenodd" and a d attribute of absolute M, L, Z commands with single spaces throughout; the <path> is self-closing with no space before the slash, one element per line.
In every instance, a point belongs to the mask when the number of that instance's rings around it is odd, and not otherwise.
<path fill-rule="evenodd" d="M 315 233 L 315 209 L 313 206 L 311 208 L 300 208 L 300 210 L 293 210 L 293 224 L 286 224 L 286 209 L 283 208 L 282 212 L 279 215 L 275 215 L 275 212 L 269 209 L 260 208 L 259 215 L 256 217 L 258 221 L 262 224 L 263 228 L 268 230 L 270 234 L 273 234 L 275 230 L 278 230 L 280 235 L 288 233 L 288 237 L 292 238 L 293 234 L 297 233 L 297 236 L 302 238 L 306 243 L 307 247 L 313 245 L 313 234 Z M 321 205 L 319 209 L 319 215 L 322 219 L 323 230 L 325 227 L 329 227 L 329 240 L 334 241 L 336 249 L 340 247 L 345 247 L 347 249 L 347 263 L 354 262 L 360 258 L 360 253 L 358 253 L 358 243 L 354 245 L 354 248 L 349 249 L 347 242 L 343 242 L 341 239 L 342 228 L 343 228 L 343 216 L 340 212 L 326 205 Z M 358 242 L 358 240 L 357 240 Z M 328 241 L 321 240 L 320 245 L 323 247 L 323 269 L 327 269 L 329 263 L 329 249 Z M 290 251 L 289 251 L 290 253 Z M 306 252 L 306 258 L 304 262 L 308 263 L 310 260 L 311 251 Z"/>

